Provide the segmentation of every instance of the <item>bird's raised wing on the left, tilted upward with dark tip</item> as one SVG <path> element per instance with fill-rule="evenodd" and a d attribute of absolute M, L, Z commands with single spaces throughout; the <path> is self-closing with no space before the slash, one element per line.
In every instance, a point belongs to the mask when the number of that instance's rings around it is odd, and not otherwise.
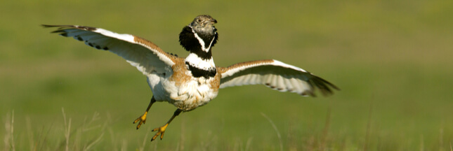
<path fill-rule="evenodd" d="M 117 34 L 112 31 L 95 27 L 77 25 L 44 25 L 44 27 L 58 27 L 52 33 L 58 33 L 65 37 L 74 37 L 78 41 L 84 41 L 98 50 L 108 50 L 117 54 L 145 75 L 150 73 L 171 72 L 171 66 L 175 64 L 173 55 L 162 51 L 154 43 L 144 38 L 130 34 Z"/>

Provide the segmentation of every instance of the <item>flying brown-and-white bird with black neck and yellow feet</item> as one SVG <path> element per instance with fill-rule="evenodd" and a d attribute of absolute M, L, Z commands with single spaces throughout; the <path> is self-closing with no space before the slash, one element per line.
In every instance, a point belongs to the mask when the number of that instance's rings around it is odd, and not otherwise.
<path fill-rule="evenodd" d="M 155 43 L 131 34 L 117 34 L 106 29 L 79 25 L 48 25 L 51 33 L 73 37 L 98 50 L 113 52 L 126 59 L 147 78 L 152 98 L 145 113 L 133 121 L 139 129 L 155 102 L 166 101 L 176 106 L 171 118 L 156 131 L 151 141 L 164 138 L 166 128 L 180 113 L 204 106 L 216 98 L 219 89 L 240 85 L 265 85 L 280 92 L 315 96 L 333 94 L 338 87 L 306 70 L 275 59 L 241 62 L 228 67 L 216 66 L 211 50 L 218 41 L 217 23 L 211 15 L 198 15 L 179 34 L 180 45 L 189 52 L 178 57 L 164 52 Z"/>

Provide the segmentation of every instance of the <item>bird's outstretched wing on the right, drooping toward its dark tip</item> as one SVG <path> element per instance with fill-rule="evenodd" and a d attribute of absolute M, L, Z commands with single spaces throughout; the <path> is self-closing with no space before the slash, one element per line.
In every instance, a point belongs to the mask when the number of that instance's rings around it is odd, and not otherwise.
<path fill-rule="evenodd" d="M 332 94 L 331 88 L 338 89 L 308 71 L 273 59 L 218 67 L 218 71 L 222 77 L 220 88 L 261 84 L 280 92 L 294 92 L 303 96 L 315 96 L 315 88 L 324 95 Z"/>

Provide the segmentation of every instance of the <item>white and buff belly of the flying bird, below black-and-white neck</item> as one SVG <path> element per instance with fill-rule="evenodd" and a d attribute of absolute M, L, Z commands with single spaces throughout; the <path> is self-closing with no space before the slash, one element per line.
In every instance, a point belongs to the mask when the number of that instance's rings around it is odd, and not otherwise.
<path fill-rule="evenodd" d="M 199 106 L 203 106 L 218 94 L 218 89 L 212 89 L 209 80 L 195 78 L 181 85 L 176 85 L 175 82 L 170 80 L 161 79 L 151 89 L 157 101 L 168 101 L 176 108 L 184 111 L 194 110 Z"/>

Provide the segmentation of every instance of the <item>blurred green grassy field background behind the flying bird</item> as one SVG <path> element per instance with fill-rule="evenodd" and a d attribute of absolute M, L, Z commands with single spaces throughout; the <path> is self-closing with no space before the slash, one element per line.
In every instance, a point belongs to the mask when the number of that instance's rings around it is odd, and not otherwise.
<path fill-rule="evenodd" d="M 39 26 L 102 27 L 185 57 L 178 34 L 200 14 L 218 20 L 217 66 L 277 59 L 341 91 L 221 89 L 150 143 L 176 108 L 156 103 L 136 130 L 152 96 L 145 76 Z M 2 2 L 0 16 L 0 150 L 452 148 L 453 1 L 18 0 Z"/>

